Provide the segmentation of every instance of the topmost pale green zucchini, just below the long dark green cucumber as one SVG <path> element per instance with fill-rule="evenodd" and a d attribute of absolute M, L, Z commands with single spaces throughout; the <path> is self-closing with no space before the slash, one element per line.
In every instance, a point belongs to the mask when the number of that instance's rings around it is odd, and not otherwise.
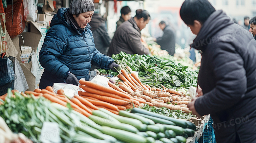
<path fill-rule="evenodd" d="M 146 124 L 146 125 L 154 125 L 155 124 L 155 122 L 152 121 L 151 119 L 148 119 L 148 118 L 145 118 L 143 116 L 139 116 L 139 115 L 127 112 L 127 111 L 123 111 L 123 110 L 120 110 L 118 115 L 140 120 L 143 124 Z"/>

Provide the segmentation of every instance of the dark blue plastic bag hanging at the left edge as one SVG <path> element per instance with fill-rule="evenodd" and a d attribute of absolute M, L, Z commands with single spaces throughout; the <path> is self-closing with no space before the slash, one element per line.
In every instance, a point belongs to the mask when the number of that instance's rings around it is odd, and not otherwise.
<path fill-rule="evenodd" d="M 15 78 L 12 62 L 9 58 L 4 57 L 0 60 L 0 86 L 10 83 Z"/>

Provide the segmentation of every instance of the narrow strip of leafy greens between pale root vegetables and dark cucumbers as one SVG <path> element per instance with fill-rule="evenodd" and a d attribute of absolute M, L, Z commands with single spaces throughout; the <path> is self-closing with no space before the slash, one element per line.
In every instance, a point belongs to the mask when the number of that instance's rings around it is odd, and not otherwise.
<path fill-rule="evenodd" d="M 182 113 L 181 110 L 171 110 L 166 107 L 149 106 L 148 104 L 145 104 L 144 106 L 141 106 L 139 108 L 147 110 L 147 111 L 151 111 L 154 113 L 158 113 L 160 115 L 177 118 L 177 119 L 180 118 L 180 119 L 190 120 L 191 117 L 196 117 L 195 115 L 192 115 L 191 113 Z M 130 112 L 131 109 L 127 109 L 126 111 Z"/>

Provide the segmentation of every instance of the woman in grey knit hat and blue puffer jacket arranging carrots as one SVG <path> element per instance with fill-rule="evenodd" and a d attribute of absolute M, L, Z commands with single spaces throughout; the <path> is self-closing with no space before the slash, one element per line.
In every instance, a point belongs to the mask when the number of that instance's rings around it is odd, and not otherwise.
<path fill-rule="evenodd" d="M 118 67 L 95 48 L 89 29 L 93 13 L 91 0 L 72 0 L 70 8 L 58 9 L 39 52 L 39 62 L 44 67 L 39 88 L 53 83 L 78 85 L 81 78 L 89 80 L 91 64 L 103 69 Z"/>

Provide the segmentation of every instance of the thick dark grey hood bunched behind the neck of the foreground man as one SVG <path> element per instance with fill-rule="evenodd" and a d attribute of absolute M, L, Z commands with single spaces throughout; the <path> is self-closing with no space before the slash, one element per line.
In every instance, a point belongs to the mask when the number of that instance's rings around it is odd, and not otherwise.
<path fill-rule="evenodd" d="M 213 38 L 213 36 L 216 36 L 216 33 L 232 24 L 234 24 L 234 22 L 231 21 L 223 10 L 213 12 L 204 22 L 200 32 L 190 46 L 197 50 L 204 51 L 206 45 L 208 45 L 206 41 L 216 38 Z"/>

